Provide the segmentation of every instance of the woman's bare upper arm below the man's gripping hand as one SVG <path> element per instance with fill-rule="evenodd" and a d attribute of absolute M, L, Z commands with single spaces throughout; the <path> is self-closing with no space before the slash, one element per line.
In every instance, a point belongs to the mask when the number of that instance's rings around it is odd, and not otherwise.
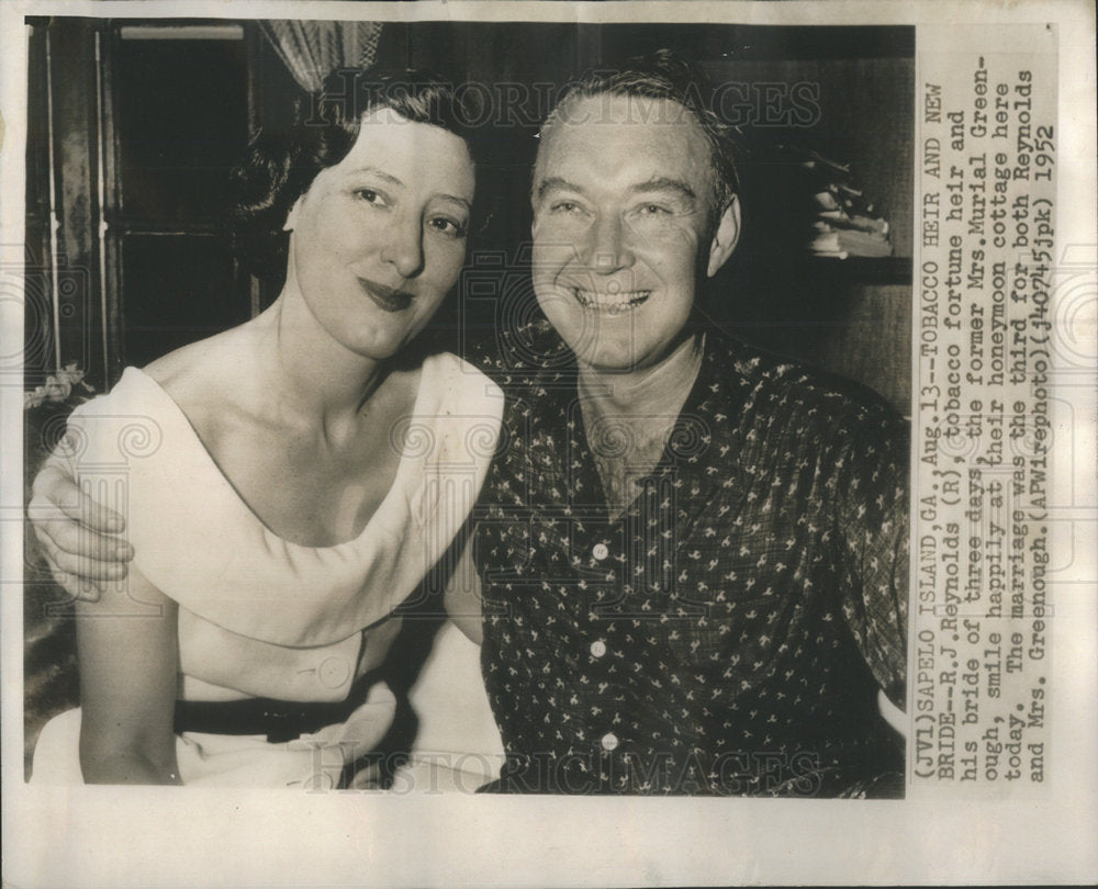
<path fill-rule="evenodd" d="M 80 766 L 88 784 L 180 784 L 172 731 L 178 607 L 131 567 L 77 604 Z"/>

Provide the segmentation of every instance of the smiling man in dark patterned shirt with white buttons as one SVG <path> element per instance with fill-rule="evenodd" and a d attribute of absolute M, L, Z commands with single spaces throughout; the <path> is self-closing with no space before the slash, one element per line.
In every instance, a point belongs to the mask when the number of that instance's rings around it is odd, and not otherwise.
<path fill-rule="evenodd" d="M 482 359 L 508 396 L 474 547 L 493 789 L 895 795 L 906 429 L 699 322 L 740 228 L 702 94 L 661 53 L 540 134 L 548 323 Z"/>

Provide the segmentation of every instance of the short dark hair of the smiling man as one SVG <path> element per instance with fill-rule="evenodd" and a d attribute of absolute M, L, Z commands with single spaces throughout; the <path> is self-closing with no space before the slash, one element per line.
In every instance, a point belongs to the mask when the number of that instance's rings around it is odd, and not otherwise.
<path fill-rule="evenodd" d="M 601 66 L 584 72 L 568 83 L 557 105 L 541 125 L 541 138 L 561 116 L 564 103 L 573 99 L 600 95 L 625 95 L 646 99 L 668 99 L 690 111 L 709 145 L 709 165 L 714 176 L 714 221 L 719 218 L 732 195 L 739 192 L 736 169 L 737 146 L 733 128 L 710 108 L 713 89 L 705 72 L 694 63 L 676 56 L 670 49 L 657 49 L 636 56 L 618 66 Z"/>

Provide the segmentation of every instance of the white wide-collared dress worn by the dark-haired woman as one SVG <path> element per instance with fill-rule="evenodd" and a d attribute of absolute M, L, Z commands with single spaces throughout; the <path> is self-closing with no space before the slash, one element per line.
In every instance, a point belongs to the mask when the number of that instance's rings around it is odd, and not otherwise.
<path fill-rule="evenodd" d="M 428 358 L 413 413 L 393 430 L 403 447 L 393 485 L 362 532 L 334 547 L 302 547 L 266 528 L 176 403 L 134 368 L 110 395 L 74 412 L 68 444 L 54 459 L 126 517 L 137 567 L 179 605 L 179 698 L 338 702 L 357 668 L 380 662 L 371 646 L 383 650 L 399 626 L 386 618 L 468 519 L 502 408 L 500 389 L 471 364 L 448 353 Z M 133 604 L 134 615 L 147 608 Z M 345 721 L 294 741 L 183 732 L 180 778 L 332 787 L 345 764 L 382 738 L 394 708 L 378 684 Z M 32 781 L 82 780 L 79 730 L 78 709 L 46 724 Z"/>

